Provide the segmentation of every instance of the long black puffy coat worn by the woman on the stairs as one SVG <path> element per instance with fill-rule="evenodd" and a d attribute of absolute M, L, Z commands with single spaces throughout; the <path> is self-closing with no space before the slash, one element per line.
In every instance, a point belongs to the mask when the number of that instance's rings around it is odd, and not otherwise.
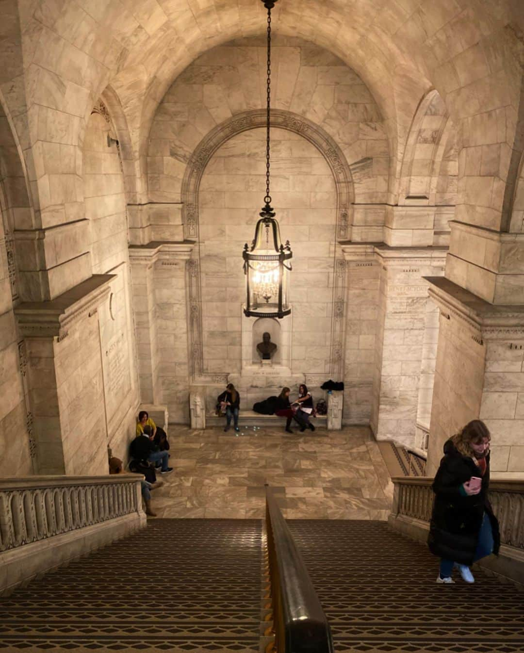
<path fill-rule="evenodd" d="M 482 477 L 482 489 L 475 496 L 463 496 L 460 487 L 472 476 Z M 499 523 L 489 503 L 488 486 L 489 453 L 486 457 L 486 471 L 482 476 L 482 471 L 473 459 L 459 453 L 453 442 L 448 440 L 444 445 L 444 458 L 440 461 L 433 482 L 435 499 L 428 544 L 434 555 L 471 565 L 484 513 L 487 513 L 491 522 L 495 543 L 493 553 L 499 552 Z"/>

